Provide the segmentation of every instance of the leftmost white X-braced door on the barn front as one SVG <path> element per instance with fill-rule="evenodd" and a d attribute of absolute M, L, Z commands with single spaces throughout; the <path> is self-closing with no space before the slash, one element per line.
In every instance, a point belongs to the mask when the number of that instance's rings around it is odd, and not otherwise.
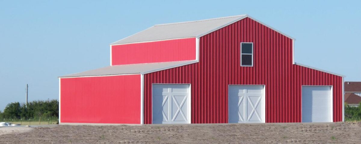
<path fill-rule="evenodd" d="M 190 123 L 190 86 L 153 84 L 153 123 Z"/>

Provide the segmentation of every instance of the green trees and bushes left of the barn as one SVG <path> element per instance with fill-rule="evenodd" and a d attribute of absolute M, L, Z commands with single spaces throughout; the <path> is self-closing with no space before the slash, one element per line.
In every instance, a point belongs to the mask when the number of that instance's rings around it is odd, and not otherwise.
<path fill-rule="evenodd" d="M 57 119 L 59 116 L 58 100 L 35 100 L 28 104 L 13 102 L 0 111 L 0 121 L 3 119 Z"/>

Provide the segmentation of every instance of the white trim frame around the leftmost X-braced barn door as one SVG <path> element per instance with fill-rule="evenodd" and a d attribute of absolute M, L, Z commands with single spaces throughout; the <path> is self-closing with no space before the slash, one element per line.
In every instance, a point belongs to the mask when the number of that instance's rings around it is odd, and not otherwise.
<path fill-rule="evenodd" d="M 188 115 L 188 122 L 187 122 L 187 124 L 190 124 L 190 123 L 192 123 L 192 114 L 191 114 L 191 112 L 192 112 L 192 107 L 191 107 L 191 104 L 192 104 L 192 91 L 191 91 L 191 84 L 164 84 L 164 83 L 152 83 L 152 87 L 151 87 L 151 93 L 152 93 L 152 97 L 151 97 L 151 100 L 152 100 L 152 109 L 151 109 L 151 111 L 152 111 L 152 124 L 153 124 L 153 85 L 188 85 L 189 86 L 189 88 L 188 88 L 188 103 L 187 103 L 187 105 L 188 105 L 188 111 L 187 111 L 187 115 Z M 162 124 L 162 125 L 164 125 L 164 124 Z M 166 124 L 165 124 L 166 125 Z"/>

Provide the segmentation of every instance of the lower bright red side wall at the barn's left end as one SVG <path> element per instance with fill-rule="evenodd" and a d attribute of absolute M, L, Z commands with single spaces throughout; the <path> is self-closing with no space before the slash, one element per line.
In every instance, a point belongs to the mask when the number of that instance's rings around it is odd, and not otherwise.
<path fill-rule="evenodd" d="M 140 75 L 60 78 L 60 120 L 140 123 Z"/>

